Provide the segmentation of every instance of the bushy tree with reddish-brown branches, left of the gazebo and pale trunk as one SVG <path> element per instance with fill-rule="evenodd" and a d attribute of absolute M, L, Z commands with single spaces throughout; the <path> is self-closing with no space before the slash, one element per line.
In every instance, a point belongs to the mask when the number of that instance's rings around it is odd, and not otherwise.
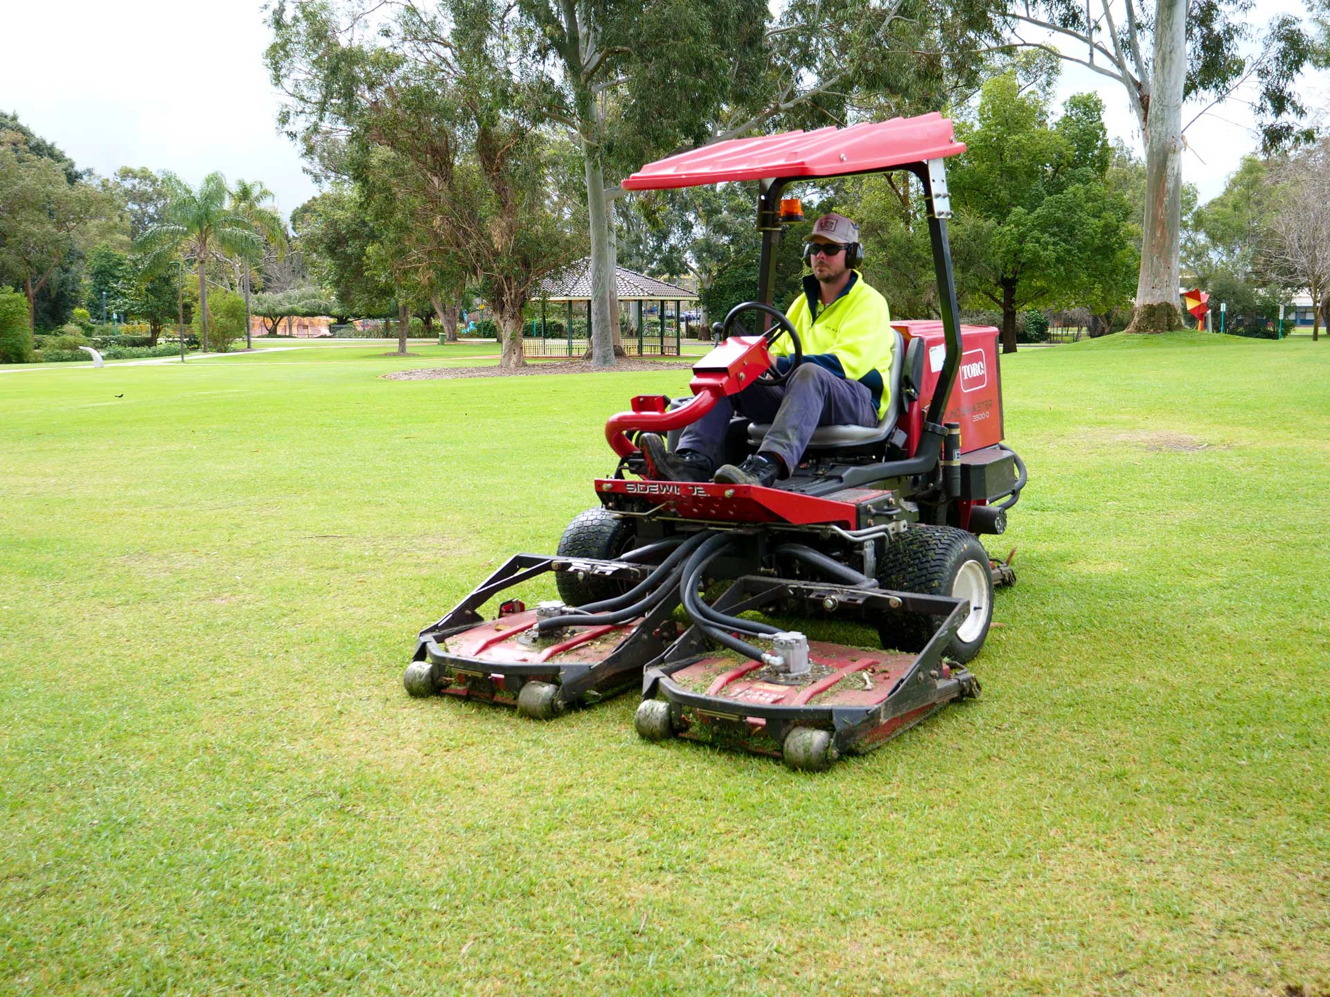
<path fill-rule="evenodd" d="M 581 253 L 581 219 L 552 203 L 557 140 L 528 113 L 531 90 L 491 70 L 501 55 L 473 56 L 451 86 L 407 74 L 376 92 L 351 158 L 371 217 L 391 234 L 399 307 L 466 277 L 493 311 L 500 366 L 520 367 L 523 308 Z"/>

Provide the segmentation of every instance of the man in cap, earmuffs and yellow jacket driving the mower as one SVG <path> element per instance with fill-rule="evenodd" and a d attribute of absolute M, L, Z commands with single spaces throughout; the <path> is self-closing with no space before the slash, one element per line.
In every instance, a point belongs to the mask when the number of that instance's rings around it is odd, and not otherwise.
<path fill-rule="evenodd" d="M 803 363 L 783 386 L 754 383 L 722 397 L 684 429 L 674 452 L 665 449 L 658 435 L 642 433 L 638 445 L 654 477 L 771 485 L 798 467 L 819 425 L 875 427 L 882 419 L 895 338 L 886 299 L 854 270 L 862 259 L 859 226 L 845 215 L 822 215 L 803 246 L 803 259 L 813 273 L 803 278 L 803 294 L 786 311 L 803 344 Z M 771 346 L 779 372 L 789 368 L 793 352 L 789 335 Z M 738 467 L 717 469 L 735 409 L 771 428 L 762 449 Z"/>

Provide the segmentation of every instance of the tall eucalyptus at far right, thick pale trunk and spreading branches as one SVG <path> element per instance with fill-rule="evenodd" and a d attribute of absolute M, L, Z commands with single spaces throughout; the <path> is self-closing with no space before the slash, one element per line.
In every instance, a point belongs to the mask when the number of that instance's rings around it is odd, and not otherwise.
<path fill-rule="evenodd" d="M 1325 0 L 1307 3 L 1322 17 L 1330 9 Z M 1145 144 L 1145 211 L 1132 331 L 1181 324 L 1186 128 L 1250 90 L 1248 102 L 1267 150 L 1311 136 L 1297 77 L 1307 65 L 1325 64 L 1330 32 L 1323 20 L 1305 24 L 1291 13 L 1270 17 L 1257 32 L 1246 21 L 1252 7 L 1250 0 L 1016 0 L 995 21 L 999 47 L 1041 49 L 1115 80 L 1136 116 Z M 1256 55 L 1245 55 L 1245 47 Z M 1184 125 L 1188 101 L 1202 106 Z"/>

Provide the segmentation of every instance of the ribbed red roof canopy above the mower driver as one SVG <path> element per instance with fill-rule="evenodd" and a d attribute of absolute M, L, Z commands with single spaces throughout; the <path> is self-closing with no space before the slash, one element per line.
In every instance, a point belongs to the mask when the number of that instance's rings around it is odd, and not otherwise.
<path fill-rule="evenodd" d="M 891 118 L 850 128 L 732 138 L 642 166 L 626 190 L 697 187 L 763 177 L 839 177 L 886 170 L 966 152 L 942 114 Z"/>

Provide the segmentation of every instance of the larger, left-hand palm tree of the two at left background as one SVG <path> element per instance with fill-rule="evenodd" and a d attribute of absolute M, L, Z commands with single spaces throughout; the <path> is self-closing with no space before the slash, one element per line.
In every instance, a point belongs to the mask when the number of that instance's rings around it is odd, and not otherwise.
<path fill-rule="evenodd" d="M 207 259 L 209 254 L 249 255 L 262 249 L 263 237 L 254 225 L 226 203 L 230 191 L 226 177 L 209 173 L 198 190 L 177 177 L 162 173 L 168 201 L 162 221 L 140 237 L 134 249 L 156 270 L 184 251 L 198 263 L 198 314 L 203 330 L 202 348 L 207 350 Z"/>

